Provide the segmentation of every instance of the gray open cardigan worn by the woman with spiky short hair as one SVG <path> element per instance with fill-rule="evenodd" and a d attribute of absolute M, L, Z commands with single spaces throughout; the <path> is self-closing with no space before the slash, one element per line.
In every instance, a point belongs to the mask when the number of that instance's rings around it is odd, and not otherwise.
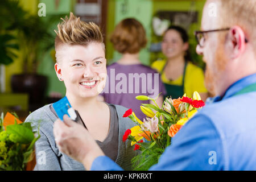
<path fill-rule="evenodd" d="M 57 117 L 50 110 L 50 104 L 35 110 L 28 115 L 25 122 L 31 122 L 34 130 L 38 130 L 41 137 L 36 141 L 36 166 L 34 170 L 85 170 L 84 166 L 69 158 L 69 156 L 59 151 L 56 146 L 55 138 L 53 135 L 53 122 Z M 125 170 L 131 170 L 131 159 L 137 155 L 137 151 L 133 150 L 130 141 L 122 141 L 123 134 L 127 129 L 135 126 L 136 124 L 130 118 L 123 118 L 122 115 L 127 110 L 126 107 L 114 105 L 117 110 L 119 134 L 118 134 L 118 154 L 115 163 Z M 40 123 L 40 124 L 39 124 Z"/>

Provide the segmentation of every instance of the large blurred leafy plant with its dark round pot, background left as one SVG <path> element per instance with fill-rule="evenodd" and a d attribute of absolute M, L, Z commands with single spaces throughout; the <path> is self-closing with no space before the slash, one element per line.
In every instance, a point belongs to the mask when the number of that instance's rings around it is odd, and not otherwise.
<path fill-rule="evenodd" d="M 53 35 L 48 27 L 56 19 L 60 19 L 60 15 L 51 15 L 47 18 L 39 17 L 37 14 L 31 15 L 16 0 L 3 0 L 0 5 L 3 14 L 0 23 L 5 25 L 5 31 L 15 30 L 17 44 L 22 52 L 24 72 L 11 77 L 11 88 L 14 93 L 29 94 L 30 110 L 33 111 L 44 105 L 47 77 L 39 75 L 37 68 L 44 53 L 54 46 Z M 12 47 L 17 48 L 17 46 Z M 11 63 L 8 58 L 5 61 Z"/>

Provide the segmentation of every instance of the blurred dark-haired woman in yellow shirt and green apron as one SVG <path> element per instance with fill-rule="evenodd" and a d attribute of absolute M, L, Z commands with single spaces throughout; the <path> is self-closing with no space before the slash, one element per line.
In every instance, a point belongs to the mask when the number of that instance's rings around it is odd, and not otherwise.
<path fill-rule="evenodd" d="M 193 97 L 193 92 L 197 91 L 205 101 L 208 91 L 204 86 L 204 72 L 190 62 L 188 48 L 187 32 L 179 26 L 169 27 L 162 42 L 167 60 L 155 61 L 152 68 L 161 74 L 167 92 L 165 97 L 179 98 L 184 93 Z"/>

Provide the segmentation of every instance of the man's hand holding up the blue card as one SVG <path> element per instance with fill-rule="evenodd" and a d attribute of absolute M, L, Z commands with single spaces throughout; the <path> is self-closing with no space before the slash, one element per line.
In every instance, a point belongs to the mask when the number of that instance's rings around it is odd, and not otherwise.
<path fill-rule="evenodd" d="M 53 134 L 59 150 L 84 164 L 89 170 L 93 160 L 104 155 L 104 152 L 84 127 L 72 121 L 68 115 L 64 115 L 63 121 L 57 119 L 53 125 Z"/>

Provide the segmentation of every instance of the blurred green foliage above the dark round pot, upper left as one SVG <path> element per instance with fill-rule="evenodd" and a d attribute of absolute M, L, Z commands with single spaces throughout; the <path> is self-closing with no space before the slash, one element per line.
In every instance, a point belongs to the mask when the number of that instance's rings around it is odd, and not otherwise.
<path fill-rule="evenodd" d="M 24 10 L 18 0 L 1 0 L 0 64 L 13 63 L 14 51 L 19 48 L 24 72 L 35 73 L 44 53 L 54 46 L 54 34 L 48 27 L 61 16 L 63 14 L 39 17 Z"/>

